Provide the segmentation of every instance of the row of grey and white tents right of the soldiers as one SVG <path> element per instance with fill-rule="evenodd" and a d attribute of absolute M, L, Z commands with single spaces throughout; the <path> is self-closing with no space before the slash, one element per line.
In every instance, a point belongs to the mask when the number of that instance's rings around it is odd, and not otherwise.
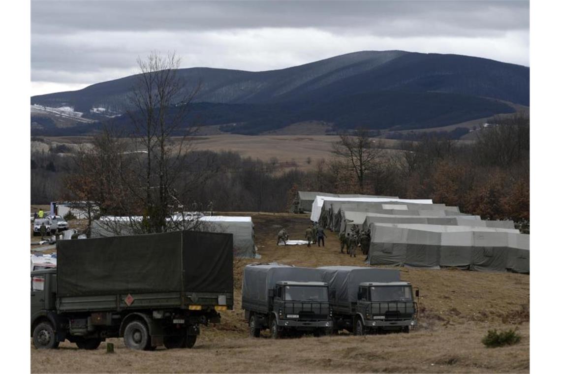
<path fill-rule="evenodd" d="M 370 233 L 370 265 L 530 272 L 530 239 L 511 220 L 482 220 L 430 199 L 316 195 L 312 221 Z"/>

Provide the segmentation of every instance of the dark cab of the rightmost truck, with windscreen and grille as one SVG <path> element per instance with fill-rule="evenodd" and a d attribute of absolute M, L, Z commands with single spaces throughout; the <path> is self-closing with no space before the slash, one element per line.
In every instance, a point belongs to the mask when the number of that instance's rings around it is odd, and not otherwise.
<path fill-rule="evenodd" d="M 419 296 L 419 290 L 415 291 Z M 417 303 L 413 300 L 411 283 L 363 282 L 358 285 L 356 335 L 385 330 L 408 333 L 417 325 Z"/>

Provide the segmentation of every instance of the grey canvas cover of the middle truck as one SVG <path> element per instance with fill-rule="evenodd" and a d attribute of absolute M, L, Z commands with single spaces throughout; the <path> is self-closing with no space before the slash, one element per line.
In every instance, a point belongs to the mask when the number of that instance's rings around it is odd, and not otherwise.
<path fill-rule="evenodd" d="M 311 267 L 279 264 L 247 265 L 243 269 L 242 303 L 244 301 L 266 304 L 268 290 L 278 281 L 323 281 L 321 272 Z M 243 307 L 243 306 L 242 306 Z"/>

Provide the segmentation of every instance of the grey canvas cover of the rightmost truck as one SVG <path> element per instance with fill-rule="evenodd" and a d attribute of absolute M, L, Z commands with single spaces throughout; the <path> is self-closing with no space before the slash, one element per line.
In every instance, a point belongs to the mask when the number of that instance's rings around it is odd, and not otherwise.
<path fill-rule="evenodd" d="M 378 267 L 360 266 L 324 266 L 318 267 L 323 281 L 329 284 L 329 299 L 335 303 L 357 301 L 358 285 L 362 282 L 397 282 L 399 270 L 379 269 Z M 335 290 L 335 299 L 332 300 Z"/>

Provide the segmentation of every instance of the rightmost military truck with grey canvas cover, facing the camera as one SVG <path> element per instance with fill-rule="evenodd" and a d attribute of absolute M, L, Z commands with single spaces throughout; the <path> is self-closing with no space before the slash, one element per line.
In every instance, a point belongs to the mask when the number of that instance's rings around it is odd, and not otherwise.
<path fill-rule="evenodd" d="M 355 335 L 408 333 L 416 326 L 417 304 L 411 283 L 400 281 L 399 270 L 358 266 L 326 266 L 318 270 L 329 284 L 334 331 L 344 329 Z"/>

